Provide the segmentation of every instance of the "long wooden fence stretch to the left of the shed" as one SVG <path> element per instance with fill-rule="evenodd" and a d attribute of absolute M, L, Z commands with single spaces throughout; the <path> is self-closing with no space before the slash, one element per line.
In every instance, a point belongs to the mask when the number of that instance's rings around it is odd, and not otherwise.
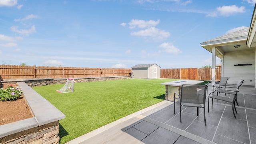
<path fill-rule="evenodd" d="M 19 78 L 85 78 L 106 76 L 131 76 L 125 68 L 74 68 L 50 66 L 0 65 L 0 80 Z"/>

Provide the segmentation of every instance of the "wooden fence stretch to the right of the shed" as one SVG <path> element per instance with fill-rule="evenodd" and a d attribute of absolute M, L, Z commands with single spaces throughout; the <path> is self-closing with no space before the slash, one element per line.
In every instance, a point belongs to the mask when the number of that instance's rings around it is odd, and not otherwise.
<path fill-rule="evenodd" d="M 216 80 L 221 78 L 221 68 L 215 68 Z M 212 80 L 212 68 L 161 69 L 161 78 L 185 80 Z"/>

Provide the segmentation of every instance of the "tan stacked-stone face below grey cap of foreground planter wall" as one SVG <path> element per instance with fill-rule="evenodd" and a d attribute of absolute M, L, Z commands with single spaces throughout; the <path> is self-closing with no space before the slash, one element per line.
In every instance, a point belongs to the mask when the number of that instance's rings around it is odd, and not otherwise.
<path fill-rule="evenodd" d="M 58 144 L 59 121 L 0 138 L 0 144 Z"/>

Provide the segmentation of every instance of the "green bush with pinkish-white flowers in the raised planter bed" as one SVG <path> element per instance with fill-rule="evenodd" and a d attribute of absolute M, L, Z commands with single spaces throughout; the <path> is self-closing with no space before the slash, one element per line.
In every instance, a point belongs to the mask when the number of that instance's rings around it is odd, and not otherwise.
<path fill-rule="evenodd" d="M 9 85 L 7 88 L 0 89 L 0 101 L 11 101 L 17 100 L 22 96 L 22 90 L 17 86 L 14 88 L 12 85 Z"/>

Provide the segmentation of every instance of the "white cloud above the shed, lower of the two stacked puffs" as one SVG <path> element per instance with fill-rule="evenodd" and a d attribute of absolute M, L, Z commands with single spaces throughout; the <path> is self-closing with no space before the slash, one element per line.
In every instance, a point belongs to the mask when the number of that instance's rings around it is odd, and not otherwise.
<path fill-rule="evenodd" d="M 132 32 L 131 35 L 134 36 L 149 36 L 152 37 L 153 39 L 157 40 L 164 40 L 170 36 L 170 32 L 166 32 L 164 30 L 159 30 L 158 28 L 155 27 L 150 27 L 146 30 L 140 30 L 138 32 Z"/>

